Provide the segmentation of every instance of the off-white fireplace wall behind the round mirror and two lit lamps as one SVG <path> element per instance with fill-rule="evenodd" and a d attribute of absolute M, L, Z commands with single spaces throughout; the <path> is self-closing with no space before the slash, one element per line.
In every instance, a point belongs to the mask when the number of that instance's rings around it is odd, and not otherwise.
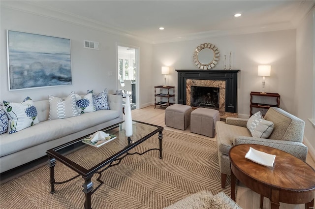
<path fill-rule="evenodd" d="M 233 35 L 174 43 L 156 44 L 153 49 L 154 85 L 163 84 L 161 66 L 171 66 L 167 84 L 177 88 L 175 69 L 197 69 L 192 61 L 194 49 L 202 43 L 212 43 L 220 50 L 220 61 L 214 69 L 224 68 L 224 55 L 232 52 L 232 69 L 240 69 L 238 80 L 238 113 L 250 114 L 250 92 L 262 90 L 262 77 L 257 76 L 259 64 L 271 65 L 271 76 L 266 77 L 266 92 L 281 95 L 280 107 L 294 110 L 296 70 L 296 30 Z M 177 90 L 176 90 L 177 91 Z M 176 95 L 177 98 L 177 95 Z"/>

